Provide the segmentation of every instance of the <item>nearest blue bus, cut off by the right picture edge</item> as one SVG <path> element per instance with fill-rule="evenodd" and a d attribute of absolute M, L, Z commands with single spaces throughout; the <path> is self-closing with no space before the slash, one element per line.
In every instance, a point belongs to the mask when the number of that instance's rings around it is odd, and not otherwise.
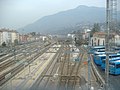
<path fill-rule="evenodd" d="M 110 61 L 109 73 L 112 75 L 119 75 L 120 74 L 120 60 Z"/>

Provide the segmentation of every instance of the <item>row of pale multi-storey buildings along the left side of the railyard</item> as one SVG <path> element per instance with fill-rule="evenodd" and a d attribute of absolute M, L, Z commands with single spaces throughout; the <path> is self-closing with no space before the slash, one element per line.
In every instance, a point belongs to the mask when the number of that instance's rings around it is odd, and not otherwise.
<path fill-rule="evenodd" d="M 3 43 L 9 46 L 16 43 L 22 44 L 40 39 L 42 41 L 48 41 L 51 39 L 51 36 L 41 35 L 40 33 L 36 34 L 36 32 L 20 34 L 16 30 L 10 30 L 6 28 L 0 29 L 0 46 Z"/>

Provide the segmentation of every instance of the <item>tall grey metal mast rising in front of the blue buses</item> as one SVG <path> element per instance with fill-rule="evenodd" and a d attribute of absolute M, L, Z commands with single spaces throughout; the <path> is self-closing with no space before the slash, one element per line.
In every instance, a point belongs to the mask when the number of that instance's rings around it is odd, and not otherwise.
<path fill-rule="evenodd" d="M 110 30 L 110 0 L 106 0 L 106 69 L 105 69 L 105 90 L 109 90 L 109 30 Z"/>

